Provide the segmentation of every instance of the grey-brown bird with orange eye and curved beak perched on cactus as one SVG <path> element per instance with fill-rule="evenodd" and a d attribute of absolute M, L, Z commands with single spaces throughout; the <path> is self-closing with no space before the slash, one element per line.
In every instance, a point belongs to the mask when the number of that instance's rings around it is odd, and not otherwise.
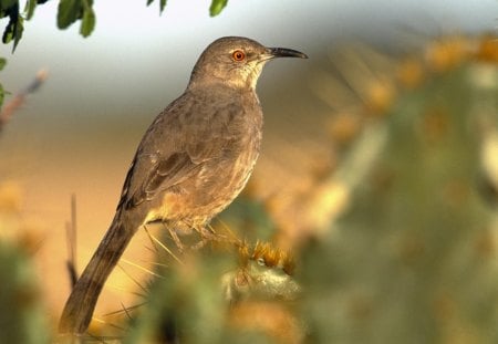
<path fill-rule="evenodd" d="M 86 332 L 107 277 L 139 228 L 160 221 L 172 233 L 201 231 L 239 195 L 261 145 L 256 85 L 276 58 L 308 59 L 242 37 L 204 50 L 185 92 L 145 132 L 113 221 L 64 305 L 61 334 Z"/>

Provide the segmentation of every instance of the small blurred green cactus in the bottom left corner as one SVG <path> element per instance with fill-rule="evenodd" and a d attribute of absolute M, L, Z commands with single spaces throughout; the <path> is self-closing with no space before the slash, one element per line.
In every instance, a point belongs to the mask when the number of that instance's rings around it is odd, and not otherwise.
<path fill-rule="evenodd" d="M 0 337 L 2 343 L 50 343 L 46 312 L 31 260 L 23 248 L 0 242 Z"/>

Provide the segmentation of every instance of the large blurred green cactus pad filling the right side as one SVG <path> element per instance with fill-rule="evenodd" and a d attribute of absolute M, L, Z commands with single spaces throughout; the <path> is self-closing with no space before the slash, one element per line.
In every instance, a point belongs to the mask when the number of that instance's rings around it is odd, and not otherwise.
<path fill-rule="evenodd" d="M 380 124 L 385 147 L 350 210 L 307 248 L 312 342 L 498 342 L 497 209 L 478 188 L 496 80 L 475 64 L 434 74 Z"/>

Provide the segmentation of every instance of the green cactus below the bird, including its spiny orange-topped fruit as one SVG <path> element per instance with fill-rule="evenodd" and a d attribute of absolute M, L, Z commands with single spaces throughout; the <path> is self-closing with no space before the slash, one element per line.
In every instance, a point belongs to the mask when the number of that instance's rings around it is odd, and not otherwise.
<path fill-rule="evenodd" d="M 257 325 L 258 320 L 289 316 L 282 305 L 295 300 L 300 288 L 280 267 L 261 263 L 276 257 L 270 251 L 260 244 L 251 254 L 266 258 L 246 257 L 247 264 L 237 267 L 232 251 L 215 248 L 158 269 L 163 278 L 151 284 L 123 343 L 274 343 L 279 334 Z"/>

